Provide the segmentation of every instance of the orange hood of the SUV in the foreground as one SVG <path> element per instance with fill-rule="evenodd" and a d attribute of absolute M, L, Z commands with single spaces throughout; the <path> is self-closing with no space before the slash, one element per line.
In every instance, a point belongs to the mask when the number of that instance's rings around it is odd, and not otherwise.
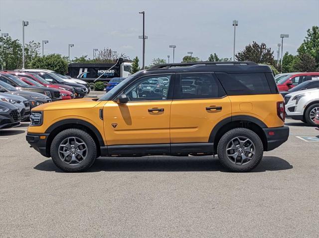
<path fill-rule="evenodd" d="M 35 111 L 50 111 L 50 110 L 70 110 L 70 109 L 81 109 L 81 108 L 92 108 L 101 103 L 93 98 L 82 98 L 82 99 L 70 99 L 45 103 L 37 106 Z"/>

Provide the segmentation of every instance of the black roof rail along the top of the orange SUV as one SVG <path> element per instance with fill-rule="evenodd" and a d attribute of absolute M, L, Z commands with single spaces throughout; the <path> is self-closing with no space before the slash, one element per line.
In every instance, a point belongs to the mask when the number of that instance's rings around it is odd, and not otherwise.
<path fill-rule="evenodd" d="M 175 63 L 175 64 L 162 64 L 162 65 L 155 65 L 148 70 L 161 70 L 161 69 L 169 69 L 169 68 L 177 68 L 177 67 L 191 67 L 191 66 L 209 66 L 209 65 L 257 65 L 251 61 L 225 61 L 225 62 L 210 62 L 210 61 L 203 61 L 203 62 L 192 62 L 192 63 Z"/>

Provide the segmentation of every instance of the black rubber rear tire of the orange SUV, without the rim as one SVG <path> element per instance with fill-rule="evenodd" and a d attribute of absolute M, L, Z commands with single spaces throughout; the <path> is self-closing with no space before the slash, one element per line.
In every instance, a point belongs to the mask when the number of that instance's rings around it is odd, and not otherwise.
<path fill-rule="evenodd" d="M 246 164 L 235 164 L 228 159 L 226 154 L 227 144 L 235 137 L 244 136 L 250 139 L 255 146 L 255 155 L 251 161 Z M 226 132 L 219 140 L 217 146 L 217 155 L 221 164 L 232 172 L 248 172 L 254 169 L 263 158 L 264 147 L 260 137 L 253 131 L 246 128 L 235 128 Z"/>

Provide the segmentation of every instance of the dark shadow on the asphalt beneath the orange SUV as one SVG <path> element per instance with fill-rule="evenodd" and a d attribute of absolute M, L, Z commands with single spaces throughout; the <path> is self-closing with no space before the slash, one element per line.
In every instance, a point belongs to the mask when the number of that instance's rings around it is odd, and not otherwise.
<path fill-rule="evenodd" d="M 265 172 L 291 169 L 293 166 L 285 159 L 265 156 L 251 172 Z M 34 169 L 63 172 L 51 159 L 37 164 Z M 218 159 L 212 157 L 139 157 L 114 158 L 104 157 L 95 161 L 86 172 L 99 171 L 222 171 L 228 172 Z"/>

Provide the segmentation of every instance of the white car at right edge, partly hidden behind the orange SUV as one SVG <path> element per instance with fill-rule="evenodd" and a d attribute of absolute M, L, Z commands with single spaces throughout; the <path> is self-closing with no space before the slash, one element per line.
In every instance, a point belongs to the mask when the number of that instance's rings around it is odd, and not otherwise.
<path fill-rule="evenodd" d="M 286 115 L 316 126 L 314 119 L 319 111 L 319 88 L 289 93 L 285 96 Z"/>

